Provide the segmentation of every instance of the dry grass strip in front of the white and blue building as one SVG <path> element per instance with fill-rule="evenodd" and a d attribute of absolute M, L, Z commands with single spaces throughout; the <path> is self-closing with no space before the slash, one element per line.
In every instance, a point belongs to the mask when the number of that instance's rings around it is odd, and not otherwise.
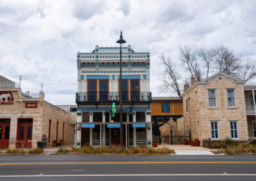
<path fill-rule="evenodd" d="M 71 152 L 76 154 L 175 154 L 174 150 L 169 148 L 136 147 L 121 150 L 119 145 L 113 145 L 111 148 L 72 148 Z"/>

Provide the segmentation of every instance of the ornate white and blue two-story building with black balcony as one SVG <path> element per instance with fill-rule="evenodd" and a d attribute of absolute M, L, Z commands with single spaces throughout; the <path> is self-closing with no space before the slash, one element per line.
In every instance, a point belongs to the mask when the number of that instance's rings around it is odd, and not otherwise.
<path fill-rule="evenodd" d="M 152 147 L 150 54 L 122 48 L 124 147 Z M 120 144 L 120 48 L 96 46 L 77 53 L 75 147 Z M 115 119 L 109 114 L 116 104 Z"/>

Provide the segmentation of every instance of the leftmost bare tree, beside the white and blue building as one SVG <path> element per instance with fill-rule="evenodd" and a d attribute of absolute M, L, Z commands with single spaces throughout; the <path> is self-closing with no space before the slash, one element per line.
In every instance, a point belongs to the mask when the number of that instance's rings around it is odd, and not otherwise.
<path fill-rule="evenodd" d="M 164 55 L 160 56 L 161 64 L 164 66 L 164 80 L 163 80 L 163 87 L 165 89 L 172 89 L 175 91 L 180 98 L 180 85 L 178 80 L 180 79 L 180 75 L 177 71 L 175 71 L 175 66 L 170 59 L 170 57 L 165 57 Z"/>

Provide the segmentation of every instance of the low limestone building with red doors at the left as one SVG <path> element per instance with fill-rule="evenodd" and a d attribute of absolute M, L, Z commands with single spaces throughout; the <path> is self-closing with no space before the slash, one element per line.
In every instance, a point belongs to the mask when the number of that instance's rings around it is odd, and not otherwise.
<path fill-rule="evenodd" d="M 44 92 L 22 93 L 14 82 L 0 78 L 0 148 L 74 143 L 76 114 L 45 101 Z"/>

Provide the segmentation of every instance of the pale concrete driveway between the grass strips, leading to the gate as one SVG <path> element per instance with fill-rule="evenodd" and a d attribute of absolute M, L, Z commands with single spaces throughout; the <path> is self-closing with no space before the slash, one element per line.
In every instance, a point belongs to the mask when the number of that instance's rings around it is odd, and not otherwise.
<path fill-rule="evenodd" d="M 177 155 L 214 155 L 211 151 L 216 150 L 204 147 L 191 147 L 191 145 L 158 145 L 158 148 L 170 148 Z"/>

